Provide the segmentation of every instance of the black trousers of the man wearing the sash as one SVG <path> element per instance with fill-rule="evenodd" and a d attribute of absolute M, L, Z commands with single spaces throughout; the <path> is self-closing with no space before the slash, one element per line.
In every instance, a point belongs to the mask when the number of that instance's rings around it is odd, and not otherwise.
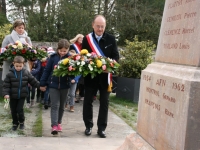
<path fill-rule="evenodd" d="M 99 114 L 97 120 L 98 130 L 104 131 L 107 127 L 108 121 L 108 104 L 109 104 L 109 95 L 107 88 L 99 87 L 100 98 L 99 98 Z M 96 88 L 85 87 L 85 97 L 83 102 L 83 121 L 86 128 L 92 128 L 93 123 L 93 96 L 97 91 Z"/>

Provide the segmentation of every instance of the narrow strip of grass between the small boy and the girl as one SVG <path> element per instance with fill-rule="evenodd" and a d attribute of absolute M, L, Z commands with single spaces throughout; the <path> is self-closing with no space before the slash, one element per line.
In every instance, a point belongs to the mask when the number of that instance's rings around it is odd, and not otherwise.
<path fill-rule="evenodd" d="M 42 137 L 42 105 L 39 105 L 39 111 L 37 114 L 37 119 L 33 125 L 33 135 L 36 137 Z"/>

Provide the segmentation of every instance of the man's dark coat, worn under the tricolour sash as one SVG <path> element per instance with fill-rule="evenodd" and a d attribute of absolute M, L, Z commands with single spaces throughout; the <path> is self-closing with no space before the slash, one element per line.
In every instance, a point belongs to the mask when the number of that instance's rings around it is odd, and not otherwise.
<path fill-rule="evenodd" d="M 92 36 L 97 41 L 94 32 L 93 32 Z M 98 43 L 98 41 L 97 41 L 97 43 Z M 102 38 L 99 40 L 99 46 L 106 57 L 115 59 L 116 61 L 119 60 L 119 52 L 117 49 L 117 44 L 116 44 L 116 40 L 115 40 L 114 36 L 112 36 L 108 33 L 104 33 Z M 92 52 L 92 49 L 90 48 L 90 45 L 89 45 L 86 37 L 83 38 L 82 49 L 87 49 L 89 53 Z M 93 79 L 91 78 L 91 76 L 89 74 L 84 78 L 84 84 L 85 84 L 85 86 L 89 86 L 89 87 L 93 87 L 93 88 L 97 88 L 100 84 L 102 87 L 107 88 L 108 87 L 108 74 L 101 73 L 101 74 L 98 74 Z"/>

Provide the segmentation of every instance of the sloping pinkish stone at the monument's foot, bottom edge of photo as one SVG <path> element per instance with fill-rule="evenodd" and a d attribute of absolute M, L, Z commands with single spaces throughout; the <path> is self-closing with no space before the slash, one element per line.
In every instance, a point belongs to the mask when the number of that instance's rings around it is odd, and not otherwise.
<path fill-rule="evenodd" d="M 132 133 L 128 135 L 124 143 L 117 150 L 155 150 L 140 135 Z"/>

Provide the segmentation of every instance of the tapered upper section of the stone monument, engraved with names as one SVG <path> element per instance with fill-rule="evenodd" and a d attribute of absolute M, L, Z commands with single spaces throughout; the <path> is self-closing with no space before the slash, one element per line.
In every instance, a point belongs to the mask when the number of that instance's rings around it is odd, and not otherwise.
<path fill-rule="evenodd" d="M 200 65 L 199 6 L 199 0 L 166 0 L 156 61 Z"/>

